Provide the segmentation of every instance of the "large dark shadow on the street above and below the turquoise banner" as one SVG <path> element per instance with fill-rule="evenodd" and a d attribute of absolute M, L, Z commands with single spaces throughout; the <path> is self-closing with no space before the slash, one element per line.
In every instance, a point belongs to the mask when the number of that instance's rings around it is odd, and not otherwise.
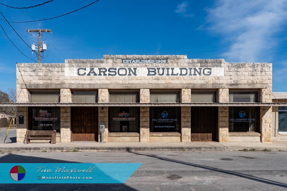
<path fill-rule="evenodd" d="M 1 156 L 1 155 L 0 155 Z M 15 155 L 9 153 L 0 157 L 1 163 L 75 163 L 74 161 Z M 106 176 L 103 173 L 103 176 Z M 3 176 L 3 174 L 1 174 Z M 9 176 L 9 175 L 8 175 Z M 1 184 L 0 190 L 135 190 L 125 184 Z"/>

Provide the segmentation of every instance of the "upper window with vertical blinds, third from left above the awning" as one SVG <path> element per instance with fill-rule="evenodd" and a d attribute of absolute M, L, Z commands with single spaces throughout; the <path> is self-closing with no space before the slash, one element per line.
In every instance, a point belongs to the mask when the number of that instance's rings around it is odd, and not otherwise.
<path fill-rule="evenodd" d="M 139 103 L 139 92 L 109 92 L 110 103 Z"/>

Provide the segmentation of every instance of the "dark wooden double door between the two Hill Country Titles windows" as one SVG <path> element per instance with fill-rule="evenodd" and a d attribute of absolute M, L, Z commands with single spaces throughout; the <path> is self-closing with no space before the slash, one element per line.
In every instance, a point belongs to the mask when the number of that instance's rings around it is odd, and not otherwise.
<path fill-rule="evenodd" d="M 216 141 L 218 107 L 191 107 L 191 141 Z"/>

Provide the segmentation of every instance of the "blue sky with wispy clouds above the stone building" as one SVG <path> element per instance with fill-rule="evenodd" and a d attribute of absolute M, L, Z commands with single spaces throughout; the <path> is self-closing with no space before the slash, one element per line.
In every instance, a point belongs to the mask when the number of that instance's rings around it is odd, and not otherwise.
<path fill-rule="evenodd" d="M 27 7 L 45 1 L 2 0 L 1 3 Z M 30 21 L 62 15 L 93 1 L 54 0 L 30 9 L 0 5 L 0 11 L 8 21 Z M 11 25 L 27 44 L 33 44 L 36 39 L 36 34 L 32 37 L 26 32 L 27 28 L 52 29 L 53 36 L 43 34 L 49 52 L 41 62 L 96 59 L 103 54 L 187 54 L 189 59 L 272 62 L 272 91 L 287 92 L 286 23 L 287 0 L 100 0 L 60 18 Z M 0 24 L 30 58 L 31 51 L 11 27 L 2 20 Z M 15 63 L 32 61 L 18 52 L 1 29 L 0 44 L 0 90 L 5 91 L 15 87 Z"/>

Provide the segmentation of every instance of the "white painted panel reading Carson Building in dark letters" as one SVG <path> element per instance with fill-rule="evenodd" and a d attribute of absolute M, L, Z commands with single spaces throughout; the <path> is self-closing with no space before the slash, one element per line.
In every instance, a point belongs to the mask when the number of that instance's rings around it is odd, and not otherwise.
<path fill-rule="evenodd" d="M 66 67 L 65 76 L 224 76 L 224 67 L 78 68 Z"/>

